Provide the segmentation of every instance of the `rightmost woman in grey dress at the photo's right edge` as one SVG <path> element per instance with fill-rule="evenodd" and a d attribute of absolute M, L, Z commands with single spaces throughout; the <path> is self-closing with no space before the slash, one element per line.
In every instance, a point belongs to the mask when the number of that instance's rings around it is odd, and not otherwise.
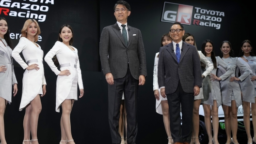
<path fill-rule="evenodd" d="M 240 82 L 243 101 L 243 123 L 247 134 L 247 144 L 256 143 L 256 57 L 254 57 L 252 43 L 245 40 L 241 43 L 239 60 L 249 69 L 250 75 Z M 241 72 L 242 74 L 242 72 Z M 251 111 L 250 111 L 251 110 Z M 252 112 L 254 138 L 250 132 L 250 114 Z"/>

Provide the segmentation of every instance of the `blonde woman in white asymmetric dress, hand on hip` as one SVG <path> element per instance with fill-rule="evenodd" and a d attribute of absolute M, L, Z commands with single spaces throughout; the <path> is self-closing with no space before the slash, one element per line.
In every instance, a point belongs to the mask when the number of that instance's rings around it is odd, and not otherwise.
<path fill-rule="evenodd" d="M 38 144 L 37 123 L 38 116 L 42 110 L 40 95 L 43 97 L 46 94 L 43 65 L 44 52 L 40 45 L 35 43 L 40 33 L 40 28 L 36 20 L 26 20 L 21 30 L 19 43 L 12 52 L 12 57 L 16 62 L 18 62 L 23 69 L 26 69 L 23 73 L 22 97 L 19 106 L 19 111 L 26 108 L 23 121 L 23 144 L 30 144 L 30 131 L 32 134 L 31 144 Z M 19 55 L 21 52 L 25 58 L 25 62 Z"/>

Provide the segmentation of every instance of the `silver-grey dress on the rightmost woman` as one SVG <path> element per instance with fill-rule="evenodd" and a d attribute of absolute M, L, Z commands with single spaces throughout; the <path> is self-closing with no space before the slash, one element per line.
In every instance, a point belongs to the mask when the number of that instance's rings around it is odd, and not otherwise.
<path fill-rule="evenodd" d="M 256 98 L 256 81 L 251 81 L 251 78 L 256 75 L 256 58 L 249 56 L 245 57 L 245 59 L 248 60 L 248 62 L 244 61 L 243 59 L 240 59 L 242 63 L 249 69 L 251 74 L 245 78 L 242 82 L 240 82 L 240 87 L 242 90 L 243 99 L 242 101 L 255 103 Z M 242 74 L 242 72 L 241 72 Z"/>

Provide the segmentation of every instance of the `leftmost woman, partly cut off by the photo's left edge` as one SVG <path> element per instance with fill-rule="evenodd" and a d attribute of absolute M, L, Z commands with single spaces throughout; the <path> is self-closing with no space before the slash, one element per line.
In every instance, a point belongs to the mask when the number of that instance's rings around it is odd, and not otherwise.
<path fill-rule="evenodd" d="M 12 102 L 12 85 L 14 96 L 18 90 L 11 56 L 12 48 L 8 22 L 0 17 L 0 144 L 7 144 L 4 136 L 3 115 L 7 102 Z"/>

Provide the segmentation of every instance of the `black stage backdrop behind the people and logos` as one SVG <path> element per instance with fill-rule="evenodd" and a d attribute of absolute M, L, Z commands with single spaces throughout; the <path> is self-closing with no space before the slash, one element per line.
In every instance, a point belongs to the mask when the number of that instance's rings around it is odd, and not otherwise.
<path fill-rule="evenodd" d="M 15 0 L 12 0 L 14 2 Z M 18 0 L 16 0 L 18 1 Z M 107 83 L 100 71 L 98 43 L 101 30 L 116 22 L 113 6 L 117 0 L 55 0 L 49 7 L 45 22 L 39 22 L 42 31 L 42 42 L 38 42 L 44 53 L 54 45 L 58 30 L 64 24 L 70 24 L 74 29 L 74 46 L 78 48 L 85 95 L 76 101 L 71 113 L 72 135 L 76 144 L 111 144 L 108 125 Z M 138 101 L 138 144 L 167 143 L 162 121 L 162 115 L 155 112 L 153 95 L 153 66 L 155 53 L 160 48 L 160 38 L 167 33 L 172 23 L 161 22 L 165 0 L 129 0 L 131 14 L 128 25 L 141 30 L 147 61 L 147 75 L 144 86 L 139 86 Z M 24 3 L 34 4 L 29 0 Z M 205 39 L 214 43 L 215 53 L 220 55 L 220 43 L 224 40 L 232 43 L 232 48 L 238 54 L 240 43 L 249 39 L 252 43 L 256 37 L 256 13 L 254 5 L 248 0 L 239 2 L 231 0 L 168 0 L 168 2 L 192 5 L 202 9 L 224 12 L 221 29 L 210 27 L 184 25 L 186 32 L 195 36 L 198 50 Z M 39 5 L 40 3 L 37 2 Z M 41 4 L 42 5 L 42 4 Z M 10 10 L 12 10 L 10 8 Z M 16 9 L 17 11 L 17 9 Z M 20 10 L 22 11 L 22 10 Z M 27 11 L 27 10 L 26 10 Z M 26 12 L 25 11 L 25 12 Z M 195 10 L 193 9 L 193 14 Z M 32 11 L 31 11 L 32 13 Z M 43 12 L 42 12 L 43 14 Z M 10 23 L 11 32 L 19 33 L 26 18 L 5 16 Z M 192 18 L 193 19 L 193 18 Z M 14 40 L 14 45 L 18 40 Z M 61 138 L 61 113 L 55 112 L 56 75 L 45 64 L 47 94 L 42 101 L 42 112 L 38 122 L 38 139 L 40 144 L 58 144 Z M 18 144 L 23 140 L 23 117 L 25 110 L 18 111 L 24 70 L 17 64 L 15 73 L 18 81 L 18 94 L 8 104 L 5 120 L 5 135 L 8 144 Z"/>

